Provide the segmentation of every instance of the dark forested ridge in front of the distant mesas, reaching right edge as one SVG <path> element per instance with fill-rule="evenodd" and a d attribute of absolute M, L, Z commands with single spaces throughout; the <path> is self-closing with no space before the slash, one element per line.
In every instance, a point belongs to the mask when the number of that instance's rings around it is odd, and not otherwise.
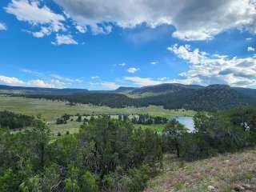
<path fill-rule="evenodd" d="M 173 86 L 173 85 L 172 85 Z M 126 106 L 164 106 L 166 109 L 228 110 L 234 106 L 256 106 L 256 92 L 230 86 L 179 86 L 170 93 L 145 98 L 130 98 L 124 94 L 87 93 L 71 95 L 26 94 L 27 98 L 46 98 L 74 103 L 122 108 Z M 151 87 L 150 87 L 151 89 Z M 137 91 L 137 90 L 136 90 Z"/>

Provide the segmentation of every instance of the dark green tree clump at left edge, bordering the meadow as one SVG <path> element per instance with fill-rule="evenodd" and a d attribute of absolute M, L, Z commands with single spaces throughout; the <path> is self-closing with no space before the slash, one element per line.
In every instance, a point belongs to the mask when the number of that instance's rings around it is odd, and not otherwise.
<path fill-rule="evenodd" d="M 0 111 L 0 128 L 9 128 L 10 130 L 22 129 L 32 126 L 34 118 L 24 114 L 14 114 L 10 111 Z"/>

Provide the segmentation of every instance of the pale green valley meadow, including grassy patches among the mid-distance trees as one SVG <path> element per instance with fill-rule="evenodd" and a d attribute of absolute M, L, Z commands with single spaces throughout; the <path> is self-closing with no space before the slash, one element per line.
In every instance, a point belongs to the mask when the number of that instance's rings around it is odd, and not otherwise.
<path fill-rule="evenodd" d="M 22 98 L 22 97 L 9 97 L 0 95 L 0 110 L 10 110 L 15 113 L 27 115 L 41 115 L 42 118 L 48 122 L 52 134 L 56 136 L 58 133 L 66 134 L 67 131 L 76 133 L 82 122 L 68 121 L 67 124 L 56 125 L 56 118 L 61 117 L 63 114 L 150 114 L 152 116 L 162 116 L 166 118 L 176 116 L 193 116 L 192 110 L 166 110 L 162 106 L 148 106 L 148 107 L 127 107 L 127 108 L 110 108 L 108 106 L 92 106 L 82 105 L 77 106 L 66 105 L 66 102 L 50 101 L 46 99 Z M 142 126 L 142 125 L 135 125 Z M 154 130 L 162 130 L 162 125 L 142 126 L 142 128 L 150 127 Z"/>

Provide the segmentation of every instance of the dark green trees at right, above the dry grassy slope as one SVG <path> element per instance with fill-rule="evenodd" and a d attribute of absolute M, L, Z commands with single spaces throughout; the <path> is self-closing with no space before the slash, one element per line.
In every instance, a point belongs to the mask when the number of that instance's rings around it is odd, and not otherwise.
<path fill-rule="evenodd" d="M 208 158 L 256 144 L 256 109 L 239 107 L 215 114 L 194 116 L 194 132 L 175 120 L 162 132 L 164 152 L 174 152 L 186 160 Z"/>

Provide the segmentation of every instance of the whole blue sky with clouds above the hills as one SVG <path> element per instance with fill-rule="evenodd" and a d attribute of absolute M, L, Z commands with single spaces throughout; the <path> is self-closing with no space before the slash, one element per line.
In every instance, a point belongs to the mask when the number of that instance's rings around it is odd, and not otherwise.
<path fill-rule="evenodd" d="M 256 88 L 256 0 L 1 0 L 0 84 Z"/>

